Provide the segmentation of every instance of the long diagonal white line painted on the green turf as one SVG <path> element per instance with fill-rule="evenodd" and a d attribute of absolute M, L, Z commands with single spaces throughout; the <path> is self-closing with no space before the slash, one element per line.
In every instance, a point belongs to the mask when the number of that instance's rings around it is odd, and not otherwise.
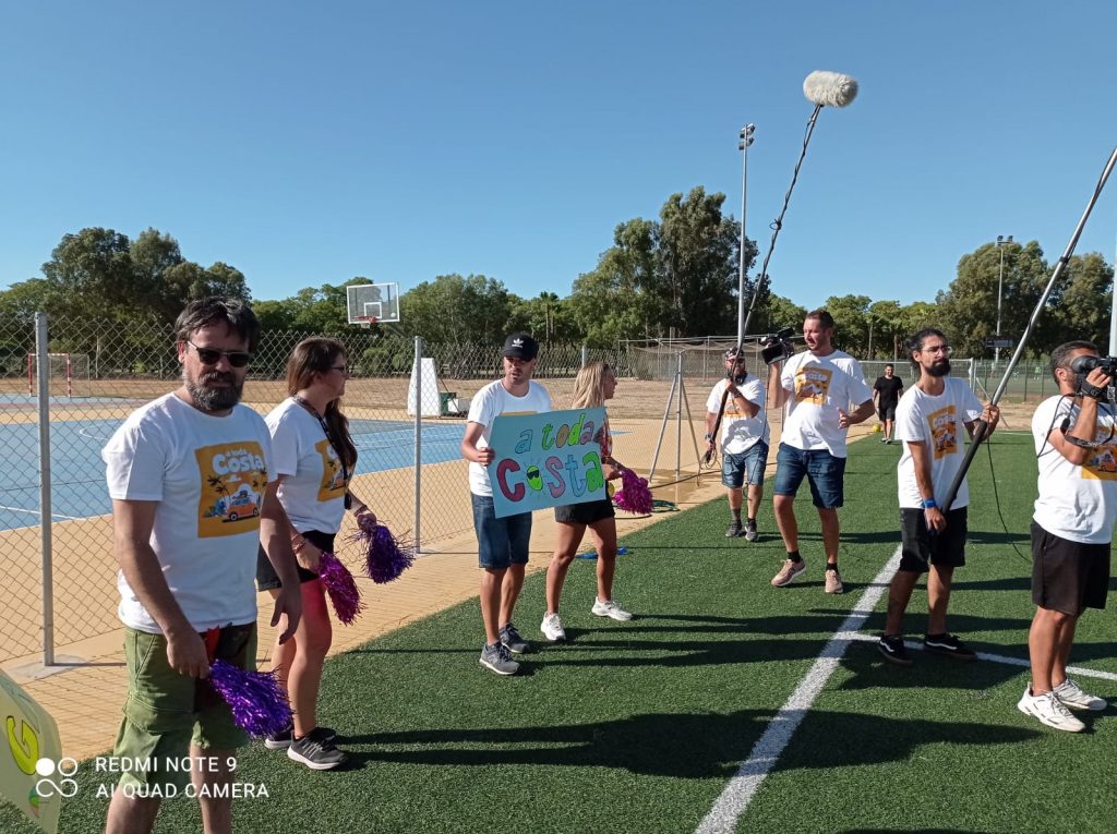
<path fill-rule="evenodd" d="M 799 725 L 810 711 L 814 699 L 819 697 L 819 692 L 825 687 L 830 675 L 834 673 L 838 663 L 846 653 L 846 648 L 858 639 L 858 629 L 877 607 L 880 597 L 888 589 L 888 581 L 896 573 L 899 564 L 900 548 L 897 547 L 896 553 L 877 574 L 877 578 L 853 605 L 853 610 L 850 611 L 841 627 L 823 646 L 814 660 L 811 671 L 799 682 L 795 691 L 791 693 L 791 698 L 768 723 L 764 735 L 760 737 L 750 751 L 748 758 L 741 763 L 736 775 L 729 779 L 729 784 L 717 797 L 714 807 L 706 814 L 695 834 L 720 834 L 722 832 L 736 831 L 737 819 L 748 807 L 748 803 L 756 795 L 761 783 L 767 778 L 768 771 L 780 758 L 780 754 L 783 752 L 787 742 L 791 741 L 791 737 L 795 735 L 795 730 L 799 729 Z"/>

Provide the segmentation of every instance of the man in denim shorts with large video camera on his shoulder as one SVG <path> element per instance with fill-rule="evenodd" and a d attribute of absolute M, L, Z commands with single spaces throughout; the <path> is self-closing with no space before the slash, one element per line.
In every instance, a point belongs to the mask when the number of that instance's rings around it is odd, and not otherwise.
<path fill-rule="evenodd" d="M 772 490 L 787 558 L 772 584 L 789 585 L 806 569 L 799 554 L 795 519 L 795 492 L 805 478 L 822 523 L 825 592 L 840 594 L 844 587 L 838 573 L 838 508 L 844 499 L 846 435 L 849 426 L 872 416 L 872 391 L 865 384 L 861 364 L 833 346 L 833 334 L 834 320 L 827 310 L 808 313 L 803 322 L 806 351 L 783 363 L 782 372 L 768 374 L 768 400 L 773 405 L 787 405 Z M 853 409 L 847 411 L 851 404 Z"/>

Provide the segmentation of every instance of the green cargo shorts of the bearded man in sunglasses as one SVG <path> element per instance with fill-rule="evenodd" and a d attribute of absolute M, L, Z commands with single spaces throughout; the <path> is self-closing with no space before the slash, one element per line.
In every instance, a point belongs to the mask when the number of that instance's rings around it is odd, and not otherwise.
<path fill-rule="evenodd" d="M 190 784 L 190 746 L 233 750 L 248 742 L 248 734 L 232 720 L 232 712 L 208 680 L 189 678 L 171 669 L 166 638 L 125 626 L 124 659 L 128 696 L 124 701 L 113 748 L 120 786 Z M 214 659 L 241 669 L 256 667 L 256 623 L 227 625 L 218 638 Z"/>

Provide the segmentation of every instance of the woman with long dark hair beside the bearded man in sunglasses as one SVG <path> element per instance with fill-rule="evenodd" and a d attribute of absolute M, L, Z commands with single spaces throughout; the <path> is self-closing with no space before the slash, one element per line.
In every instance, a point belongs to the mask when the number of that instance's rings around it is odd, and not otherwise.
<path fill-rule="evenodd" d="M 265 418 L 279 502 L 290 519 L 288 533 L 298 558 L 303 619 L 295 636 L 277 642 L 271 652 L 274 669 L 290 697 L 294 726 L 268 736 L 264 744 L 270 750 L 286 749 L 289 758 L 313 770 L 330 770 L 345 761 L 334 745 L 336 734 L 317 720 L 322 668 L 333 639 L 318 562 L 323 553 L 333 553 L 346 509 L 357 518 L 369 512 L 349 488 L 356 445 L 341 410 L 347 380 L 344 345 L 330 338 L 303 339 L 287 360 L 290 396 Z M 279 578 L 266 558 L 257 562 L 256 582 L 260 591 L 278 593 Z"/>

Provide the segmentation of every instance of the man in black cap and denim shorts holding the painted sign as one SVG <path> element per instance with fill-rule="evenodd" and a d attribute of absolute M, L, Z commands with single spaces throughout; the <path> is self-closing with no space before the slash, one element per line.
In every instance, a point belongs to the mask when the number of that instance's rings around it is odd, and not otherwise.
<path fill-rule="evenodd" d="M 504 342 L 504 376 L 489 383 L 469 403 L 469 422 L 461 440 L 461 454 L 469 461 L 469 491 L 474 505 L 474 529 L 479 547 L 481 574 L 481 619 L 485 648 L 480 664 L 497 674 L 515 674 L 519 663 L 512 654 L 531 651 L 512 613 L 524 586 L 524 568 L 532 537 L 532 514 L 497 518 L 493 485 L 486 467 L 496 453 L 489 448 L 493 420 L 500 414 L 537 414 L 551 411 L 551 395 L 532 382 L 538 343 L 526 333 L 514 333 Z"/>

